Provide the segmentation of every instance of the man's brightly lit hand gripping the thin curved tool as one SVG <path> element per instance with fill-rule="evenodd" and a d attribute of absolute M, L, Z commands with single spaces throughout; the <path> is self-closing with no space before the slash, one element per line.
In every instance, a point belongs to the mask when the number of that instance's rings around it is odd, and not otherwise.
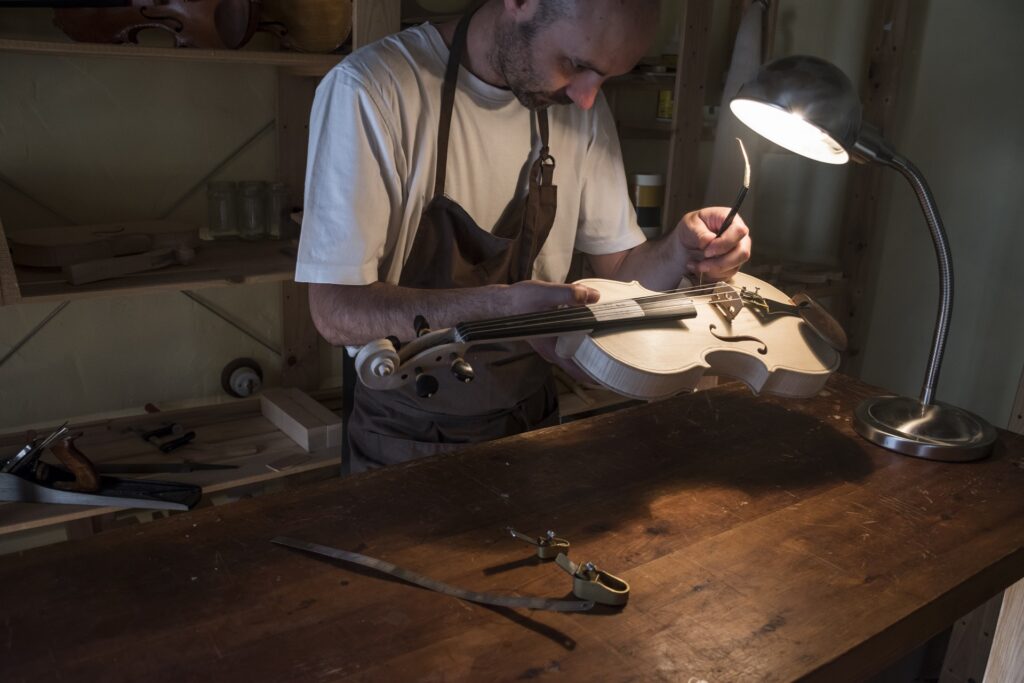
<path fill-rule="evenodd" d="M 686 269 L 705 280 L 727 280 L 751 258 L 750 228 L 737 214 L 721 234 L 728 207 L 708 207 L 683 216 L 676 228 L 689 254 Z"/>

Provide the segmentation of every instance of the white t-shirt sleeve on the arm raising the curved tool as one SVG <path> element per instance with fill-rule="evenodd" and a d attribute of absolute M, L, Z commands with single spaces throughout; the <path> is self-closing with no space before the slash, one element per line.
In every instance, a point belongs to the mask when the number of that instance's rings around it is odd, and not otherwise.
<path fill-rule="evenodd" d="M 642 244 L 646 238 L 630 203 L 618 134 L 603 95 L 594 104 L 593 137 L 583 174 L 575 248 L 600 255 Z"/>

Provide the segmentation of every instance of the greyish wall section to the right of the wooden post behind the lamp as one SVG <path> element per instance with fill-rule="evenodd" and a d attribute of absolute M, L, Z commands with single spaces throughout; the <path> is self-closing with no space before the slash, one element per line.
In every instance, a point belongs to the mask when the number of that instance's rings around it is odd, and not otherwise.
<path fill-rule="evenodd" d="M 1024 368 L 1024 6 L 913 3 L 922 23 L 892 141 L 928 180 L 949 236 L 952 326 L 937 395 L 1005 427 Z M 918 395 L 938 307 L 938 271 L 909 184 L 888 173 L 861 377 Z"/>

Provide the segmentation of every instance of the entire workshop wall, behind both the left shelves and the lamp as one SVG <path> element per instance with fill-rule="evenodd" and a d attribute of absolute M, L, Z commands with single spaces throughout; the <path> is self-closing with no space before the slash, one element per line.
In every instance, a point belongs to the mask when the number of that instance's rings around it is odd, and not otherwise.
<path fill-rule="evenodd" d="M 868 4 L 782 0 L 775 55 L 811 53 L 855 80 L 864 71 Z M 953 325 L 939 397 L 1005 425 L 1024 367 L 1019 292 L 1024 269 L 1024 161 L 1016 125 L 1024 62 L 1013 34 L 1024 6 L 1009 0 L 913 3 L 918 50 L 904 56 L 899 123 L 889 137 L 934 190 L 956 267 Z M 54 35 L 47 10 L 0 12 L 2 35 Z M 978 46 L 984 46 L 979 49 Z M 8 228 L 153 218 L 273 118 L 273 71 L 4 54 L 0 57 L 0 218 Z M 268 179 L 272 129 L 219 174 Z M 845 186 L 856 167 L 830 167 L 775 147 L 755 161 L 759 256 L 838 263 Z M 915 395 L 937 302 L 937 274 L 913 194 L 887 174 L 869 282 L 861 377 Z M 202 191 L 170 217 L 205 220 Z M 276 342 L 275 285 L 201 294 Z M 0 307 L 0 356 L 56 304 Z M 322 350 L 336 376 L 338 354 Z M 0 429 L 70 416 L 224 399 L 220 369 L 280 358 L 178 293 L 71 303 L 0 367 Z M 326 382 L 337 377 L 327 377 Z"/>

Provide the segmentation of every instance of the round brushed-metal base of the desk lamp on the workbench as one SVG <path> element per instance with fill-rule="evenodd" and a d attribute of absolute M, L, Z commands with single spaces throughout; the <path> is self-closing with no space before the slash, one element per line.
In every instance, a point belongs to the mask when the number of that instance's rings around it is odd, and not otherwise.
<path fill-rule="evenodd" d="M 854 412 L 857 433 L 884 449 L 914 458 L 967 462 L 984 458 L 995 443 L 995 429 L 955 405 L 929 405 L 906 396 L 867 398 Z"/>

